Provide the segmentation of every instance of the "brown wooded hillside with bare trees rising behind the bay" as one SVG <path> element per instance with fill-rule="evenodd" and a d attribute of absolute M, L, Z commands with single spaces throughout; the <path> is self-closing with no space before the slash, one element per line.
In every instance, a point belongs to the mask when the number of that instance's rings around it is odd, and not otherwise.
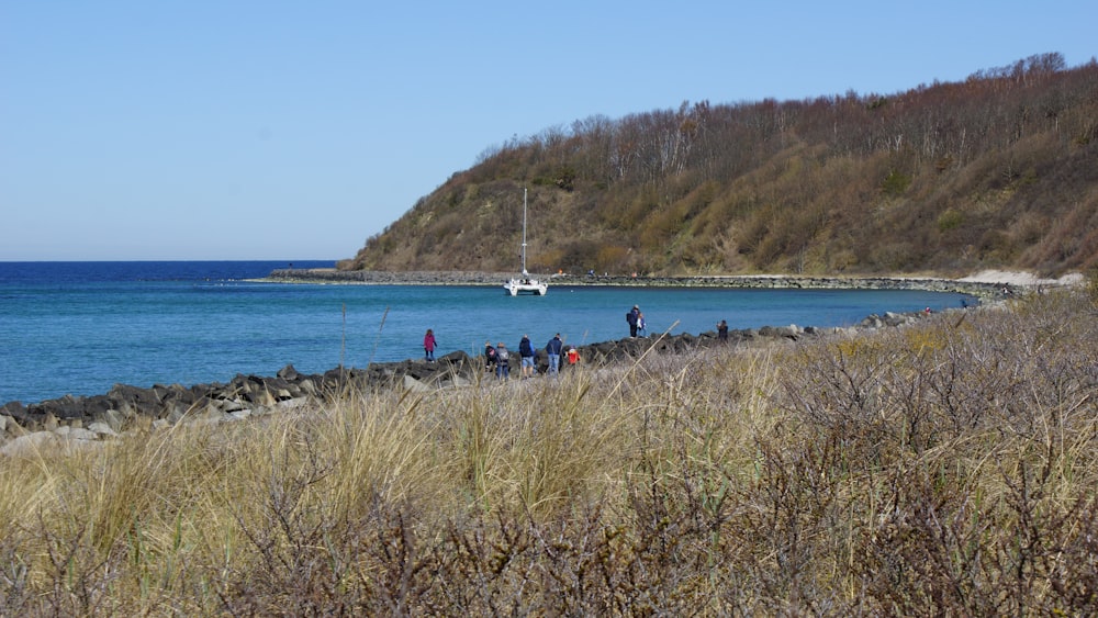
<path fill-rule="evenodd" d="M 684 102 L 483 153 L 341 269 L 939 273 L 1098 267 L 1098 61 L 895 94 Z"/>

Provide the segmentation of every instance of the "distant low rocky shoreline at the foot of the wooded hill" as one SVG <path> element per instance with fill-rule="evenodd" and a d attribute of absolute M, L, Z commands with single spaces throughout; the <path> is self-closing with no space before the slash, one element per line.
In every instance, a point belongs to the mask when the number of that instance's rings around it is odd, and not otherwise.
<path fill-rule="evenodd" d="M 264 279 L 279 283 L 334 283 L 359 285 L 503 285 L 513 273 L 483 271 L 406 271 L 277 269 Z M 994 278 L 993 278 L 994 279 Z M 550 285 L 605 285 L 639 288 L 732 288 L 803 290 L 922 290 L 956 292 L 982 299 L 1001 297 L 1035 285 L 1061 284 L 1057 281 L 1027 281 L 1018 273 L 1004 273 L 1004 281 L 981 278 L 943 279 L 932 277 L 804 277 L 782 274 L 728 274 L 690 277 L 626 277 L 612 274 L 553 274 Z M 1034 280 L 1037 281 L 1037 280 Z"/>

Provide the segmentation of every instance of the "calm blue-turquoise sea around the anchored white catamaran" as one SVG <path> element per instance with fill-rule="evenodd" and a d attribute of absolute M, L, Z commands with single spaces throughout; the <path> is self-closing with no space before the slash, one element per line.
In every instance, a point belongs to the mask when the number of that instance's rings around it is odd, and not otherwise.
<path fill-rule="evenodd" d="M 849 326 L 870 314 L 941 311 L 955 293 L 898 290 L 732 290 L 552 285 L 545 296 L 501 286 L 264 281 L 311 261 L 0 262 L 0 404 L 104 394 L 115 384 L 228 382 L 480 353 L 486 341 L 544 347 L 628 336 L 639 305 L 649 335 L 761 326 Z"/>

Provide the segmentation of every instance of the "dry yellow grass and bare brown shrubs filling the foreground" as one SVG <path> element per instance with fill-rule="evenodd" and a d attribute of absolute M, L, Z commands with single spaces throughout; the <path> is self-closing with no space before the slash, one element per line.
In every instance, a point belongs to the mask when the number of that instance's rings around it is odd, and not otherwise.
<path fill-rule="evenodd" d="M 0 467 L 0 614 L 1098 613 L 1084 292 Z"/>

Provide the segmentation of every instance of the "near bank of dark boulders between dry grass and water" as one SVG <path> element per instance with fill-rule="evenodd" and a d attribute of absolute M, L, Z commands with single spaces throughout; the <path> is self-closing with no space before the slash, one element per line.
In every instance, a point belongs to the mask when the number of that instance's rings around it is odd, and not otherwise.
<path fill-rule="evenodd" d="M 926 317 L 921 312 L 871 315 L 848 330 L 904 326 Z M 727 342 L 710 330 L 699 335 L 625 338 L 581 346 L 578 350 L 584 367 L 600 367 L 627 362 L 645 353 L 691 353 L 718 345 L 795 341 L 838 330 L 842 329 L 766 326 L 729 330 Z M 513 375 L 517 375 L 518 359 L 512 361 L 516 364 L 512 368 Z M 538 351 L 537 362 L 538 371 L 545 373 L 548 368 L 545 350 Z M 484 359 L 456 351 L 435 362 L 371 363 L 365 369 L 336 368 L 322 374 L 299 373 L 287 366 L 274 377 L 239 374 L 227 383 L 158 384 L 148 389 L 119 384 L 102 395 L 66 395 L 30 405 L 10 402 L 0 406 L 0 456 L 25 454 L 47 446 L 94 446 L 138 426 L 141 419 L 154 428 L 188 422 L 238 422 L 292 409 L 318 409 L 348 393 L 376 389 L 430 390 L 484 381 L 494 383 L 494 378 L 484 372 Z"/>

